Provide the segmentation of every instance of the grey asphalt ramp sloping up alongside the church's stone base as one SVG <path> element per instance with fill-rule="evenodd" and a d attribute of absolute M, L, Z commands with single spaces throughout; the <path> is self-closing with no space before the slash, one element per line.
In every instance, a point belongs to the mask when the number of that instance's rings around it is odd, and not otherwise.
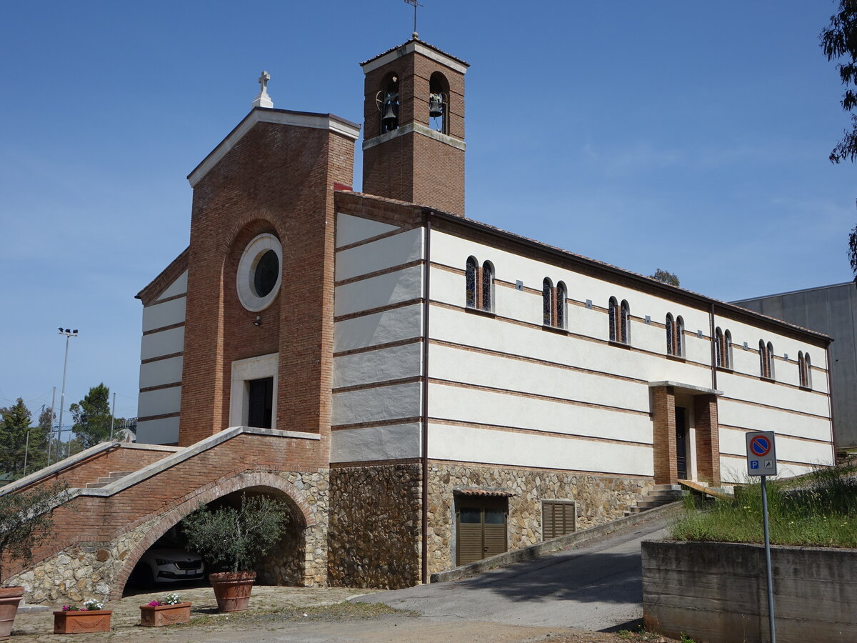
<path fill-rule="evenodd" d="M 640 543 L 667 536 L 653 521 L 600 542 L 517 562 L 468 580 L 356 598 L 436 621 L 604 630 L 643 616 Z"/>

